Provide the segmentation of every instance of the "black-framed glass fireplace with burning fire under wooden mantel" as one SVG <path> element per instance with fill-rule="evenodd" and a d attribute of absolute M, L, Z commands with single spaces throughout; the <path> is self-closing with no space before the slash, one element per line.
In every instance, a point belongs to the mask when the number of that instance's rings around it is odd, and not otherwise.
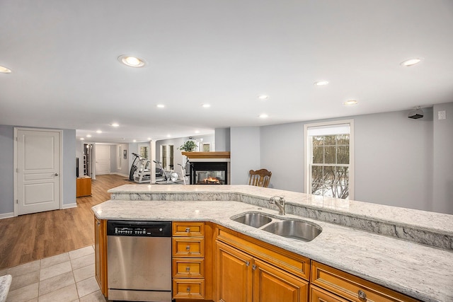
<path fill-rule="evenodd" d="M 228 163 L 191 162 L 190 185 L 227 185 Z"/>

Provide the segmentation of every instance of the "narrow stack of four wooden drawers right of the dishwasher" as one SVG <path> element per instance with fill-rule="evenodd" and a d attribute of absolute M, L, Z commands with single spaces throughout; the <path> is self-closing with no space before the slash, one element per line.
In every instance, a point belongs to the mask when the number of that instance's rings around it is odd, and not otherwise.
<path fill-rule="evenodd" d="M 205 223 L 173 222 L 173 298 L 205 298 Z"/>

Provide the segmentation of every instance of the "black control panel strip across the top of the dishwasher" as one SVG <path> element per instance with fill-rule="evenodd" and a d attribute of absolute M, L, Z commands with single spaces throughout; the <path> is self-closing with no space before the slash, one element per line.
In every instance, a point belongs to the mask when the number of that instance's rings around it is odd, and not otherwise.
<path fill-rule="evenodd" d="M 171 237 L 171 221 L 107 221 L 107 236 Z"/>

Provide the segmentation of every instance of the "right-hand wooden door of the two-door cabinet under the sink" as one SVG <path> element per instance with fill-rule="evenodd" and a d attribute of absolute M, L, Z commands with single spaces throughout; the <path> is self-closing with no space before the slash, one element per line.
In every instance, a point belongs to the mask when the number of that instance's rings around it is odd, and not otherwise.
<path fill-rule="evenodd" d="M 309 283 L 304 279 L 253 260 L 253 302 L 306 302 Z"/>

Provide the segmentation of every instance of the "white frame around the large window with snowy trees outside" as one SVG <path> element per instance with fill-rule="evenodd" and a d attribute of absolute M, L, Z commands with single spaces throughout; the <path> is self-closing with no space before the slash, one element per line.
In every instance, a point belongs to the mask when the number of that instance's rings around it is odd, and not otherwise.
<path fill-rule="evenodd" d="M 348 199 L 354 199 L 354 120 L 337 120 L 329 122 L 316 122 L 310 124 L 304 124 L 304 192 L 306 194 L 311 194 L 311 169 L 310 169 L 310 156 L 311 143 L 309 139 L 309 128 L 311 127 L 325 127 L 325 126 L 335 126 L 338 124 L 349 124 L 349 195 Z"/>

